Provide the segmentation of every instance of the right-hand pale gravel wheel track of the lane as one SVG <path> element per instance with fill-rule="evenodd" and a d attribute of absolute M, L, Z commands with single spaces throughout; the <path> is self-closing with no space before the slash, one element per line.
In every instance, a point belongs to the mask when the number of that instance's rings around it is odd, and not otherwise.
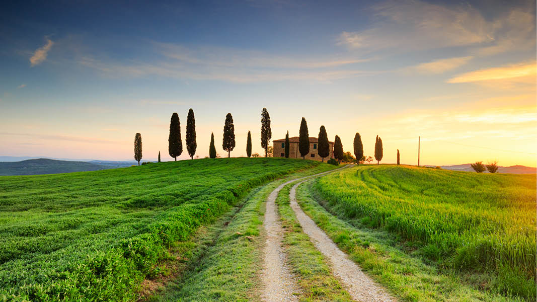
<path fill-rule="evenodd" d="M 296 188 L 305 181 L 299 182 L 291 188 L 289 200 L 291 208 L 299 220 L 304 233 L 321 253 L 329 259 L 332 273 L 342 281 L 342 285 L 351 297 L 357 301 L 397 301 L 391 297 L 380 285 L 362 272 L 356 263 L 349 260 L 347 255 L 309 218 L 296 202 Z"/>

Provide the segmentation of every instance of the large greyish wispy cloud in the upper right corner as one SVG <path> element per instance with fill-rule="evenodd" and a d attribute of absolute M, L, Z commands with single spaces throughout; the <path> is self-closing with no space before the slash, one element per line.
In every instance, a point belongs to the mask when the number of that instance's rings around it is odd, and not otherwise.
<path fill-rule="evenodd" d="M 521 9 L 491 21 L 470 5 L 447 7 L 422 1 L 387 1 L 372 10 L 373 26 L 342 32 L 339 45 L 362 52 L 473 46 L 473 53 L 479 55 L 535 46 L 535 17 Z"/>

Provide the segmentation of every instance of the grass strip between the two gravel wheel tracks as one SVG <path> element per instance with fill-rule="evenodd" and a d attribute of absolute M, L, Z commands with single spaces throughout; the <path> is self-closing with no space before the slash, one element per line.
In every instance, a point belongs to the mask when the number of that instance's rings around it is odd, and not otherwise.
<path fill-rule="evenodd" d="M 338 279 L 331 273 L 328 260 L 317 250 L 309 236 L 302 231 L 296 215 L 289 205 L 289 190 L 296 183 L 286 185 L 278 194 L 276 204 L 282 227 L 289 264 L 299 279 L 300 301 L 353 301 Z"/>

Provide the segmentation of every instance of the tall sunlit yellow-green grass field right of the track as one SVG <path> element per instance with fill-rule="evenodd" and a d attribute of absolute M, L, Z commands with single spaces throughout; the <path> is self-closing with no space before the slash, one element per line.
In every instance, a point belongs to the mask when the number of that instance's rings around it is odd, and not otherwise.
<path fill-rule="evenodd" d="M 396 235 L 438 272 L 535 299 L 535 175 L 360 166 L 314 188 L 332 213 Z"/>

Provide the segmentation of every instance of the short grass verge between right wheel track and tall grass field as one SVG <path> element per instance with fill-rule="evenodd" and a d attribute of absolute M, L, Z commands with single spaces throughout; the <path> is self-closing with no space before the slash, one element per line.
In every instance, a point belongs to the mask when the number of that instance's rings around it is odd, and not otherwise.
<path fill-rule="evenodd" d="M 371 229 L 357 218 L 345 218 L 339 208 L 331 207 L 315 192 L 317 181 L 320 179 L 297 188 L 297 202 L 302 210 L 351 260 L 394 296 L 404 301 L 523 301 L 477 290 L 459 276 L 446 274 L 444 269 L 409 254 L 409 246 L 400 236 L 384 229 Z"/>

